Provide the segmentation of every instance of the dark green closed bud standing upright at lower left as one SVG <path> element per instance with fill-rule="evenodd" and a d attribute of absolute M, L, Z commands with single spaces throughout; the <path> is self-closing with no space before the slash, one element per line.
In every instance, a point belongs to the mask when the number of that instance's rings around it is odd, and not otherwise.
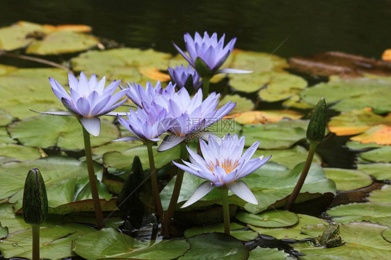
<path fill-rule="evenodd" d="M 24 222 L 40 225 L 47 218 L 47 194 L 40 170 L 31 169 L 24 183 L 23 218 Z"/>

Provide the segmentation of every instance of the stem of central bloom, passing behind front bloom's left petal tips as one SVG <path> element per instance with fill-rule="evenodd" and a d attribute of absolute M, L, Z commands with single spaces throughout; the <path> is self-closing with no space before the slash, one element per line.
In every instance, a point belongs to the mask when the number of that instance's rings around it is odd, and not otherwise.
<path fill-rule="evenodd" d="M 186 150 L 186 144 L 181 143 L 180 144 L 179 159 L 186 160 L 188 156 L 189 156 L 189 153 Z M 163 231 L 163 234 L 165 234 L 166 236 L 169 235 L 169 227 L 170 227 L 171 218 L 173 218 L 175 208 L 177 207 L 179 193 L 180 193 L 181 187 L 182 187 L 183 174 L 184 174 L 184 171 L 177 168 L 177 179 L 175 180 L 173 195 L 171 196 L 170 204 L 168 205 L 168 209 L 166 211 L 166 214 L 164 215 L 164 220 L 161 225 L 161 229 Z"/>

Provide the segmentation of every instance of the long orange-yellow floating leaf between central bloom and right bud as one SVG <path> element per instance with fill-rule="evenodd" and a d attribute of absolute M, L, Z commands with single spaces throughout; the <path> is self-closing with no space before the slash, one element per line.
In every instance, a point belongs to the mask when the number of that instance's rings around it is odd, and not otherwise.
<path fill-rule="evenodd" d="M 246 111 L 231 115 L 239 124 L 267 124 L 278 122 L 282 119 L 291 120 L 303 117 L 300 113 L 292 110 L 270 110 L 270 111 Z"/>

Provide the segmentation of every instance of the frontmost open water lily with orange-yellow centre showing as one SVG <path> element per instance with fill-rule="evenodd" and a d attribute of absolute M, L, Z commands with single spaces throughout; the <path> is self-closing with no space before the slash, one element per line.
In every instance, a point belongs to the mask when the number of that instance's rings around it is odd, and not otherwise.
<path fill-rule="evenodd" d="M 223 186 L 246 202 L 258 204 L 257 198 L 247 184 L 239 179 L 254 172 L 271 158 L 271 156 L 266 158 L 261 156 L 251 159 L 259 144 L 259 141 L 255 142 L 242 154 L 244 136 L 239 139 L 236 134 L 234 136 L 228 134 L 221 138 L 220 143 L 214 138 L 209 138 L 208 144 L 200 140 L 200 148 L 204 158 L 187 147 L 191 163 L 186 161 L 183 161 L 185 165 L 175 163 L 175 161 L 173 163 L 178 168 L 202 179 L 207 179 L 207 181 L 204 181 L 197 188 L 182 208 L 197 202 L 214 188 L 222 188 Z"/>

